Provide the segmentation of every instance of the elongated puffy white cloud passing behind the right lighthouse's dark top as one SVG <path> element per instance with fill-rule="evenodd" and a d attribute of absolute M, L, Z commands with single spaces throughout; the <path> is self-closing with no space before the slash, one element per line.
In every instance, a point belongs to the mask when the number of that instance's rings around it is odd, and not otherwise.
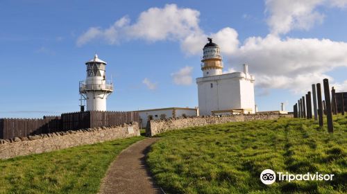
<path fill-rule="evenodd" d="M 134 24 L 125 16 L 108 28 L 91 27 L 78 37 L 77 46 L 83 46 L 94 39 L 102 39 L 107 44 L 119 44 L 121 40 L 144 39 L 149 42 L 174 40 L 181 44 L 187 55 L 201 53 L 201 45 L 207 37 L 219 42 L 223 53 L 232 53 L 239 44 L 237 32 L 232 28 L 223 28 L 217 33 L 206 35 L 198 25 L 200 12 L 189 8 L 178 8 L 167 4 L 164 8 L 149 8 L 142 12 Z"/>

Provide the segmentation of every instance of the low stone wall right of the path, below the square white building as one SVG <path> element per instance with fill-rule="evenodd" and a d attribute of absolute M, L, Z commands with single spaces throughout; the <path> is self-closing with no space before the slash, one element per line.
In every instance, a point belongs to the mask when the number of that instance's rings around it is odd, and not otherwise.
<path fill-rule="evenodd" d="M 237 114 L 227 116 L 195 116 L 190 118 L 169 118 L 151 120 L 147 123 L 146 136 L 153 136 L 169 130 L 239 121 L 271 120 L 280 117 L 292 118 L 293 114 Z"/>

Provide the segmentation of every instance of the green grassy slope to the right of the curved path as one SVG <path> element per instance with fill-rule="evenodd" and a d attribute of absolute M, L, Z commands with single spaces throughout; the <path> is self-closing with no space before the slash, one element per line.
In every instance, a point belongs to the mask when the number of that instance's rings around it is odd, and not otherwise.
<path fill-rule="evenodd" d="M 347 193 L 346 132 L 347 116 L 334 134 L 298 118 L 190 127 L 159 134 L 146 160 L 167 193 Z M 266 168 L 335 177 L 266 186 Z"/>

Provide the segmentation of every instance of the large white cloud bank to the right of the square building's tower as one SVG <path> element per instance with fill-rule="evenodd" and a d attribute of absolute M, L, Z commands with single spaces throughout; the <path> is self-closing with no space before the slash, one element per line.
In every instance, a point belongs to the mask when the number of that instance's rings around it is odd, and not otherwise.
<path fill-rule="evenodd" d="M 330 78 L 336 67 L 347 67 L 347 43 L 330 39 L 280 39 L 268 35 L 246 39 L 231 55 L 232 64 L 249 64 L 255 83 L 262 88 L 301 92 L 312 83 Z M 330 81 L 333 81 L 330 78 Z"/>

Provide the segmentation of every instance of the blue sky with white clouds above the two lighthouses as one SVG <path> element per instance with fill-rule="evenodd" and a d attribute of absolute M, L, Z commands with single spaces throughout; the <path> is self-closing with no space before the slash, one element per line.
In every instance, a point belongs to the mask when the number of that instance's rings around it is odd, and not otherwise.
<path fill-rule="evenodd" d="M 347 2 L 1 1 L 0 117 L 78 111 L 95 53 L 108 62 L 108 110 L 198 105 L 206 37 L 226 72 L 249 64 L 259 110 L 289 110 L 312 83 L 347 90 Z"/>

